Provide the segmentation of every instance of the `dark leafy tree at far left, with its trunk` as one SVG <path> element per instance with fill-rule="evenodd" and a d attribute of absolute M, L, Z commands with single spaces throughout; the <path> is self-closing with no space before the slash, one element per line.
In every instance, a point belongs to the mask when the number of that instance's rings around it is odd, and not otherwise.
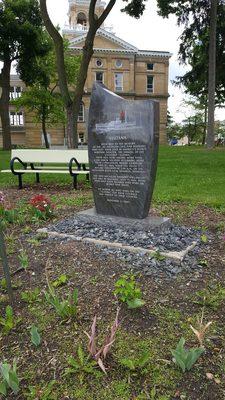
<path fill-rule="evenodd" d="M 10 70 L 17 63 L 17 71 L 34 64 L 37 55 L 43 54 L 45 41 L 37 0 L 3 0 L 0 2 L 0 116 L 2 122 L 3 148 L 11 148 L 9 95 Z M 29 72 L 31 75 L 31 72 Z M 25 78 L 25 74 L 24 74 Z M 26 79 L 24 79 L 26 82 Z"/>

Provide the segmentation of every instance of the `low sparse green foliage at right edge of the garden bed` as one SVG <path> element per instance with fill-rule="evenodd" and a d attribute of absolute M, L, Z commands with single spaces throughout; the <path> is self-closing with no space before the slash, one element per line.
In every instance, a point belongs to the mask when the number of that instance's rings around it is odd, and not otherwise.
<path fill-rule="evenodd" d="M 225 288 L 222 285 L 217 284 L 213 287 L 196 292 L 196 299 L 194 300 L 194 303 L 197 303 L 201 306 L 210 307 L 216 311 L 224 300 Z"/>

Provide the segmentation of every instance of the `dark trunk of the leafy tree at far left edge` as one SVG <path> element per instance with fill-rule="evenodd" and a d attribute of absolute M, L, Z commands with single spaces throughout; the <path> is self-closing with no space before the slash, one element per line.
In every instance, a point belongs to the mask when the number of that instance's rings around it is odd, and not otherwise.
<path fill-rule="evenodd" d="M 0 86 L 2 88 L 2 94 L 0 97 L 0 116 L 2 121 L 3 150 L 10 150 L 12 147 L 9 118 L 10 69 L 11 60 L 8 58 L 4 61 L 2 72 L 0 74 Z"/>

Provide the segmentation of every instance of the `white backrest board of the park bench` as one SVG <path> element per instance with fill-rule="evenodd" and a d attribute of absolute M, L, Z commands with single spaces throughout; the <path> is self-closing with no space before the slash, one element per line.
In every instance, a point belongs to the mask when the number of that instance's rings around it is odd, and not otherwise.
<path fill-rule="evenodd" d="M 60 163 L 68 164 L 71 158 L 76 158 L 80 164 L 88 164 L 87 150 L 41 150 L 19 149 L 12 150 L 11 158 L 18 157 L 25 163 Z"/>

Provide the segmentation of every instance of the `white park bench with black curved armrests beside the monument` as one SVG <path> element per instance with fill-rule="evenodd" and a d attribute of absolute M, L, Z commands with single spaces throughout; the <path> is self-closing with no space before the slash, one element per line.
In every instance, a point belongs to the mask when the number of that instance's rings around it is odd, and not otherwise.
<path fill-rule="evenodd" d="M 40 174 L 69 174 L 73 178 L 73 187 L 77 189 L 78 175 L 86 175 L 89 180 L 87 150 L 12 150 L 10 169 L 2 173 L 13 173 L 18 176 L 19 189 L 22 189 L 22 176 L 35 174 L 40 182 Z M 47 165 L 46 165 L 47 164 Z"/>

